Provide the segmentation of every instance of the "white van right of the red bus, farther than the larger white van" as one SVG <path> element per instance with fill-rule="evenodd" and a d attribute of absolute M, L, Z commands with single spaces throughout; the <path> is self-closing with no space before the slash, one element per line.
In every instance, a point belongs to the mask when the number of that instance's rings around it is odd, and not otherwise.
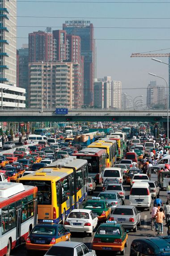
<path fill-rule="evenodd" d="M 106 179 L 117 178 L 120 183 L 123 183 L 123 173 L 121 168 L 108 167 L 105 168 L 102 173 L 102 183 L 105 182 Z"/>

